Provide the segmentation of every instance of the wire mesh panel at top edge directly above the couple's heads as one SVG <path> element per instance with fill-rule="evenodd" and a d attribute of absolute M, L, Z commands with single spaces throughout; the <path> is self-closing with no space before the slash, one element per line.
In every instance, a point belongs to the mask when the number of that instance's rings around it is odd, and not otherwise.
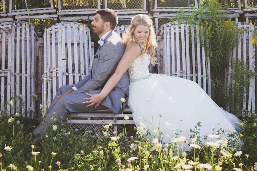
<path fill-rule="evenodd" d="M 146 0 L 108 0 L 107 8 L 113 10 L 143 9 Z"/>

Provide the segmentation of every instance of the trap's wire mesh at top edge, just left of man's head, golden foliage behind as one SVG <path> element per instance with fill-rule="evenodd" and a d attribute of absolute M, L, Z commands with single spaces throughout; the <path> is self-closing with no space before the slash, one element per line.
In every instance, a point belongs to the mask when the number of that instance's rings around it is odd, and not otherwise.
<path fill-rule="evenodd" d="M 62 10 L 97 9 L 97 0 L 61 0 Z"/>

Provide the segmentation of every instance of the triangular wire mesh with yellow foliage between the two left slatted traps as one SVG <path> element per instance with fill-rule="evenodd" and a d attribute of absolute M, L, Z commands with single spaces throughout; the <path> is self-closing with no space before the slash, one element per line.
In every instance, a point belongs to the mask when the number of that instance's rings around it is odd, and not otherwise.
<path fill-rule="evenodd" d="M 22 19 L 21 22 L 29 22 L 29 19 Z M 36 31 L 43 36 L 44 29 L 54 25 L 56 23 L 55 19 L 30 19 L 30 23 L 32 23 Z"/>

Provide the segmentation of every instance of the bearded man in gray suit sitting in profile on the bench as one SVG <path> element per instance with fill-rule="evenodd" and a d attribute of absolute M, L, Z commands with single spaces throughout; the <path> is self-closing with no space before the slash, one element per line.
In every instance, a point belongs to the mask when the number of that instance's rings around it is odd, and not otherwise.
<path fill-rule="evenodd" d="M 83 103 L 85 101 L 83 98 L 90 97 L 86 95 L 86 93 L 98 94 L 101 92 L 106 82 L 114 73 L 125 51 L 121 37 L 114 32 L 118 24 L 117 14 L 111 9 L 99 9 L 95 13 L 94 21 L 92 21 L 91 24 L 93 26 L 93 33 L 100 38 L 98 41 L 100 47 L 92 62 L 91 75 L 87 75 L 77 84 L 65 85 L 59 88 L 49 106 L 47 116 L 39 127 L 33 131 L 35 136 L 39 135 L 41 129 L 43 129 L 42 131 L 46 131 L 47 127 L 50 126 L 49 122 L 54 122 L 55 118 L 60 120 L 62 117 L 67 117 L 69 113 L 81 113 L 108 108 L 115 113 L 120 113 L 120 99 L 128 98 L 129 80 L 128 73 L 125 72 L 118 84 L 112 89 L 109 95 L 103 99 L 98 107 L 86 107 L 86 104 Z M 126 105 L 127 100 L 123 103 L 123 108 Z"/>

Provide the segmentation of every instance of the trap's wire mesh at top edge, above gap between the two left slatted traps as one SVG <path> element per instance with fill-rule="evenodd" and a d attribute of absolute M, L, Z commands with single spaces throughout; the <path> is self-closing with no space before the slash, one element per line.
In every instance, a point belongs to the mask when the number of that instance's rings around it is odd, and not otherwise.
<path fill-rule="evenodd" d="M 30 9 L 30 8 L 47 8 L 51 7 L 51 0 L 14 0 L 12 9 Z M 27 3 L 27 7 L 26 7 Z"/>

